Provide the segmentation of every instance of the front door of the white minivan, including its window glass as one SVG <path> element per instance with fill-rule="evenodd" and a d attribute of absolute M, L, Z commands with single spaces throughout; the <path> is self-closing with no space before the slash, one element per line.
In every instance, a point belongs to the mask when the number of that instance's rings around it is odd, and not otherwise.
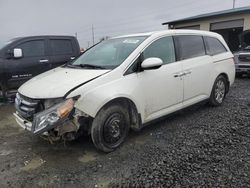
<path fill-rule="evenodd" d="M 160 38 L 143 52 L 143 59 L 158 57 L 163 66 L 156 70 L 138 73 L 139 90 L 143 96 L 144 122 L 153 120 L 182 108 L 182 63 L 176 62 L 173 38 Z"/>

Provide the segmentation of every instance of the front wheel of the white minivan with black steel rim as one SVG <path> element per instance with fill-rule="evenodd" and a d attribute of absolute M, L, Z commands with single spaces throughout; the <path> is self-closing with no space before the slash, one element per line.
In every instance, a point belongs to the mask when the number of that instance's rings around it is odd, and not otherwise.
<path fill-rule="evenodd" d="M 91 138 L 98 150 L 111 152 L 126 139 L 129 131 L 128 110 L 113 104 L 102 108 L 92 122 Z"/>

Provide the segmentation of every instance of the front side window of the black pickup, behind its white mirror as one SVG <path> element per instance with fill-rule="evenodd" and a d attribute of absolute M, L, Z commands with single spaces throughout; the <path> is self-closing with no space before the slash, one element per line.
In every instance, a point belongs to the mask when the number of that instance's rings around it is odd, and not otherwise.
<path fill-rule="evenodd" d="M 16 48 L 21 48 L 24 57 L 44 56 L 44 40 L 32 40 L 24 42 Z"/>

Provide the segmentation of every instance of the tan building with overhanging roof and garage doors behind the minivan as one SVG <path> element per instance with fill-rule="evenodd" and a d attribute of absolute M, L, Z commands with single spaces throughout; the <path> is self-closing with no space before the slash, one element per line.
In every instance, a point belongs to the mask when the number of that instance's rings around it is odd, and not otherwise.
<path fill-rule="evenodd" d="M 240 40 L 250 45 L 250 7 L 202 14 L 185 19 L 165 22 L 169 29 L 199 29 L 221 34 L 232 51 L 239 48 Z M 244 39 L 240 39 L 244 32 Z"/>

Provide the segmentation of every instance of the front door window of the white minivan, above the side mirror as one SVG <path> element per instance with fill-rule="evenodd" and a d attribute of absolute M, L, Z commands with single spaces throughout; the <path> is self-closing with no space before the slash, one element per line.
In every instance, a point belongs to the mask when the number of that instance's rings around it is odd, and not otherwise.
<path fill-rule="evenodd" d="M 160 58 L 164 64 L 175 61 L 174 42 L 172 37 L 164 37 L 150 44 L 143 52 L 144 59 Z"/>

